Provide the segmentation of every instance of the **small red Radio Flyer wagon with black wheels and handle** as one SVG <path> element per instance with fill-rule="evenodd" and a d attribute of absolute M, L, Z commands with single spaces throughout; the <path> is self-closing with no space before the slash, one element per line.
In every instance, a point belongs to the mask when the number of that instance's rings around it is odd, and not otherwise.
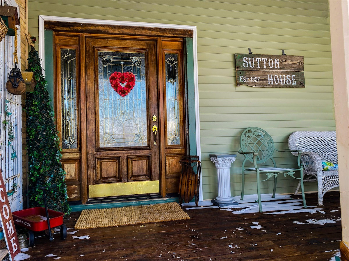
<path fill-rule="evenodd" d="M 64 213 L 47 209 L 44 192 L 45 207 L 32 207 L 12 213 L 14 223 L 29 230 L 29 246 L 34 245 L 35 233 L 48 230 L 50 241 L 53 240 L 51 228 L 60 228 L 61 239 L 67 238 L 67 226 L 63 223 Z"/>

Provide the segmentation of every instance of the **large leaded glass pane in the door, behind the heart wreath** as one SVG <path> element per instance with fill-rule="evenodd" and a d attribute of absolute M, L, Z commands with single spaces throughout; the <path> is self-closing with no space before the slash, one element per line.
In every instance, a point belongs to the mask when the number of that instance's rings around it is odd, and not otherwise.
<path fill-rule="evenodd" d="M 131 72 L 135 76 L 135 86 L 125 97 L 109 82 L 113 72 Z M 98 52 L 98 100 L 99 147 L 148 144 L 144 53 Z"/>

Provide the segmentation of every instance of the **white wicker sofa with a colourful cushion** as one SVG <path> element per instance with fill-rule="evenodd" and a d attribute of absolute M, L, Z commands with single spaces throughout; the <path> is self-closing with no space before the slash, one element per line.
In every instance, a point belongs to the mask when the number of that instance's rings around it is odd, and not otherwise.
<path fill-rule="evenodd" d="M 323 206 L 324 194 L 335 187 L 339 187 L 338 171 L 323 171 L 321 160 L 338 164 L 337 143 L 335 131 L 298 131 L 291 133 L 288 139 L 290 150 L 301 150 L 304 175 L 310 175 L 306 181 L 318 182 L 319 205 Z M 295 154 L 296 152 L 292 152 Z M 300 184 L 295 191 L 298 193 Z"/>

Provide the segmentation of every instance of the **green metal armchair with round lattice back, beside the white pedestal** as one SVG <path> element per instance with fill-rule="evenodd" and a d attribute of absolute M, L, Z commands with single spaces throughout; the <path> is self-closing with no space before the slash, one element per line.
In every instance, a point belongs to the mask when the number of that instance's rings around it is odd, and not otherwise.
<path fill-rule="evenodd" d="M 275 160 L 273 158 L 274 151 L 279 152 L 297 152 L 298 158 L 297 168 L 278 168 L 276 167 Z M 241 190 L 241 200 L 244 200 L 244 190 L 245 190 L 245 171 L 255 172 L 257 174 L 257 195 L 258 195 L 258 206 L 259 212 L 262 212 L 262 202 L 261 202 L 261 192 L 260 192 L 260 182 L 266 181 L 274 176 L 274 189 L 273 196 L 275 198 L 276 191 L 276 180 L 279 174 L 283 174 L 284 177 L 289 175 L 295 179 L 300 180 L 300 187 L 302 190 L 303 206 L 307 208 L 304 196 L 304 185 L 303 185 L 303 166 L 300 164 L 300 156 L 302 151 L 300 150 L 277 150 L 274 147 L 274 141 L 272 137 L 265 131 L 257 127 L 249 127 L 245 129 L 240 137 L 240 154 L 245 156 L 242 163 L 242 190 Z M 266 163 L 271 160 L 274 167 L 259 167 L 258 165 Z M 254 167 L 245 168 L 246 161 L 253 163 Z M 300 177 L 295 177 L 296 171 L 300 172 Z M 266 175 L 266 179 L 260 180 L 260 175 Z"/>

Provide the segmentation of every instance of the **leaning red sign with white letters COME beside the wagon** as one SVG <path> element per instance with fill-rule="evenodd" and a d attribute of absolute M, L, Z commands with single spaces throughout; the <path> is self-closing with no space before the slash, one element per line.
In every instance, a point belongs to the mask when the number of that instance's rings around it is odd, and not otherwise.
<path fill-rule="evenodd" d="M 17 233 L 15 230 L 15 224 L 13 222 L 10 205 L 6 194 L 5 184 L 3 182 L 2 173 L 0 171 L 0 219 L 3 227 L 3 234 L 5 236 L 7 249 L 10 254 L 10 259 L 14 260 L 14 257 L 21 252 Z"/>

